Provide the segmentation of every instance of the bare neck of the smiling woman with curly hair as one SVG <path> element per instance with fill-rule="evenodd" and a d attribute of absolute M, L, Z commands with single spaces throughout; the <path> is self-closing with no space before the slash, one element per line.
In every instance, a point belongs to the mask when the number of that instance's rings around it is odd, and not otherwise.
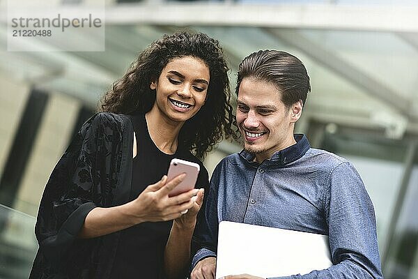
<path fill-rule="evenodd" d="M 161 112 L 157 112 L 154 107 L 146 113 L 145 118 L 148 133 L 158 149 L 167 154 L 176 153 L 178 133 L 183 123 L 168 119 Z"/>

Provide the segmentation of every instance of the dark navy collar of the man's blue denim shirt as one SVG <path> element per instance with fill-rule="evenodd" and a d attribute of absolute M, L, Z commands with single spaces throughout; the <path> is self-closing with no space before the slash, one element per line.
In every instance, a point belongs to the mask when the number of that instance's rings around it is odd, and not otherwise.
<path fill-rule="evenodd" d="M 286 149 L 274 152 L 272 158 L 270 160 L 264 160 L 263 163 L 267 163 L 268 165 L 287 165 L 304 156 L 304 153 L 307 153 L 311 148 L 307 137 L 302 134 L 294 134 L 293 137 L 295 137 L 295 144 L 288 146 Z M 251 164 L 255 163 L 253 161 L 254 154 L 242 150 L 240 156 Z"/>

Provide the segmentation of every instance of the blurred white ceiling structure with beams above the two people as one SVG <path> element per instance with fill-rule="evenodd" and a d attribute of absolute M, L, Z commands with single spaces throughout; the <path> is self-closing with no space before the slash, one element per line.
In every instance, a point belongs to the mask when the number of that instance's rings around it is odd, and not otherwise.
<path fill-rule="evenodd" d="M 284 50 L 298 56 L 311 77 L 304 117 L 381 129 L 390 138 L 418 135 L 418 3 L 107 2 L 104 52 L 8 52 L 0 0 L 0 75 L 96 105 L 138 52 L 163 33 L 187 27 L 222 43 L 232 88 L 243 57 Z"/>

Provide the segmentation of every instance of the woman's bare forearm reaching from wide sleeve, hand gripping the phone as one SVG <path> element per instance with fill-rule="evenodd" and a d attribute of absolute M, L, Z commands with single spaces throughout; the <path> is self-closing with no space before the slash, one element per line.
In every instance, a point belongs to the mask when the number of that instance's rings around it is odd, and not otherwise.
<path fill-rule="evenodd" d="M 196 195 L 196 189 L 169 197 L 170 191 L 183 181 L 184 177 L 185 174 L 180 174 L 167 183 L 167 176 L 164 175 L 132 202 L 108 208 L 96 207 L 86 216 L 79 238 L 89 239 L 111 234 L 143 222 L 172 220 L 182 216 L 181 211 L 193 211 L 192 207 L 196 202 L 192 197 Z"/>

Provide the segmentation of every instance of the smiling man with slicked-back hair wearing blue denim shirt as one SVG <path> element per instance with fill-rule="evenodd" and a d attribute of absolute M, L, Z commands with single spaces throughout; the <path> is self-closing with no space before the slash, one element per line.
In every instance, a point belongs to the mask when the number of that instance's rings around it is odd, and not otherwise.
<path fill-rule="evenodd" d="M 310 89 L 306 68 L 286 52 L 255 52 L 240 64 L 236 118 L 244 150 L 212 175 L 192 279 L 215 277 L 222 220 L 329 235 L 333 266 L 282 278 L 382 278 L 373 204 L 359 174 L 293 134 Z"/>

